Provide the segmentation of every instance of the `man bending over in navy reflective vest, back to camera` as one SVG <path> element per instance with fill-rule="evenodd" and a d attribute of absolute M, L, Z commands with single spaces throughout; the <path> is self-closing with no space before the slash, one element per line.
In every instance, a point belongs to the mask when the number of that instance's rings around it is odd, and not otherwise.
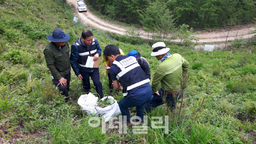
<path fill-rule="evenodd" d="M 122 90 L 123 98 L 118 102 L 123 121 L 130 123 L 128 107 L 136 106 L 136 121 L 143 119 L 144 103 L 152 98 L 150 80 L 133 56 L 120 55 L 116 45 L 106 45 L 104 55 L 112 63 L 110 76 L 113 87 Z M 120 88 L 121 84 L 122 88 Z"/>

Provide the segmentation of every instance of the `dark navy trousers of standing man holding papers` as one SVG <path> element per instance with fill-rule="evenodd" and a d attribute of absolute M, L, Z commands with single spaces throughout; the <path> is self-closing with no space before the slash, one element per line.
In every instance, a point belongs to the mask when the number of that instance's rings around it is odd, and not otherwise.
<path fill-rule="evenodd" d="M 95 86 L 96 92 L 102 98 L 103 92 L 102 92 L 102 84 L 99 81 L 99 71 L 98 68 L 96 68 L 93 72 L 83 72 L 80 71 L 80 74 L 82 75 L 82 88 L 85 92 L 90 92 L 90 78 L 93 81 L 93 85 Z"/>

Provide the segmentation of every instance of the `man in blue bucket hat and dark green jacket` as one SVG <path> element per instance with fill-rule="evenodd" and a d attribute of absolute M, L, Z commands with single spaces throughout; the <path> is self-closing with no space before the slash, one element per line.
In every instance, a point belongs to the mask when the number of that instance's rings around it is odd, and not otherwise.
<path fill-rule="evenodd" d="M 69 34 L 61 29 L 54 29 L 52 34 L 46 36 L 51 42 L 43 50 L 46 65 L 50 69 L 53 84 L 59 88 L 61 94 L 65 96 L 65 102 L 70 98 L 68 96 L 70 82 L 70 60 L 69 46 L 66 40 Z"/>

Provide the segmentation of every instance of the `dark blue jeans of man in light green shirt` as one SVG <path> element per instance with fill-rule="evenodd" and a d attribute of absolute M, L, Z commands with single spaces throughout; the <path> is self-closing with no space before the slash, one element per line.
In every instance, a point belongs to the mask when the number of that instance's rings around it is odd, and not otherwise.
<path fill-rule="evenodd" d="M 167 92 L 163 91 L 162 88 L 160 88 L 160 90 L 158 92 L 159 92 L 160 96 L 157 94 L 154 94 L 152 100 L 145 103 L 145 111 L 146 112 L 150 112 L 151 109 L 163 104 L 164 103 L 164 101 L 162 99 L 163 96 L 166 96 L 165 101 L 167 103 L 169 103 L 169 105 L 171 107 L 173 107 L 173 108 L 176 107 L 176 105 L 175 105 L 176 101 L 175 101 L 175 98 L 173 97 L 173 95 L 175 94 L 176 96 L 178 96 L 180 91 L 172 94 L 172 93 L 167 93 Z M 179 96 L 179 98 L 180 98 L 180 96 Z"/>

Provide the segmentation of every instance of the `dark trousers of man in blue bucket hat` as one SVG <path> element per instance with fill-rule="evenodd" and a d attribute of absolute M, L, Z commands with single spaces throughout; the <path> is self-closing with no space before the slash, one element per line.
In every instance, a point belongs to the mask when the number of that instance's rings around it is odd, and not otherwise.
<path fill-rule="evenodd" d="M 70 75 L 71 75 L 70 72 L 68 74 L 61 75 L 63 78 L 66 79 L 66 85 L 61 85 L 56 78 L 52 79 L 52 82 L 55 85 L 55 87 L 58 87 L 59 91 L 61 91 L 61 95 L 64 95 L 66 97 L 65 102 L 67 102 L 70 99 L 68 96 Z"/>

